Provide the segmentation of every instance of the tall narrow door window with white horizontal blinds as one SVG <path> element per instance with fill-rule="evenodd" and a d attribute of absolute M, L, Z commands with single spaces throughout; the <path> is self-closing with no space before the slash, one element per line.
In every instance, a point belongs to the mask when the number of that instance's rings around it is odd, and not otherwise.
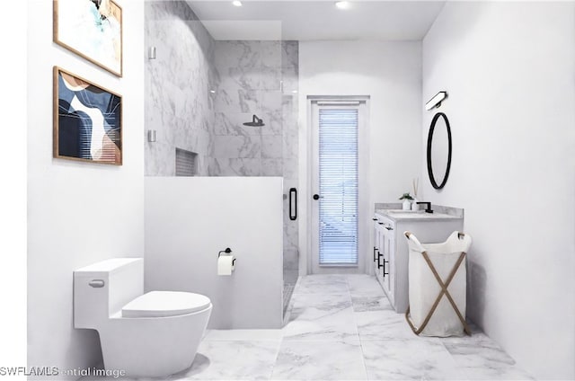
<path fill-rule="evenodd" d="M 320 265 L 358 264 L 358 109 L 319 110 Z"/>

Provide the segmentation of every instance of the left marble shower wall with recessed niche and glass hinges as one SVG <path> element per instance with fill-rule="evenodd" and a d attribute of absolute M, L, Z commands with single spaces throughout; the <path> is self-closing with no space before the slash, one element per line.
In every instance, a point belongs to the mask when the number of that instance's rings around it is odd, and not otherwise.
<path fill-rule="evenodd" d="M 214 40 L 185 2 L 146 2 L 145 12 L 146 47 L 156 48 L 156 59 L 146 59 L 145 129 L 157 133 L 154 143 L 146 139 L 146 175 L 175 175 L 175 148 L 197 153 L 198 173 L 208 175 Z"/>

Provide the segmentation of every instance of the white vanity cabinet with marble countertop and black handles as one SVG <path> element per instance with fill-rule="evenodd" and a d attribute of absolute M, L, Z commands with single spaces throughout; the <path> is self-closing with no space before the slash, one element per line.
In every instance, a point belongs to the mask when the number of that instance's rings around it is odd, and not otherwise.
<path fill-rule="evenodd" d="M 463 231 L 464 218 L 447 214 L 376 211 L 373 217 L 373 262 L 376 279 L 397 313 L 409 306 L 409 247 L 403 235 L 409 231 L 422 244 L 441 243 L 454 231 Z"/>

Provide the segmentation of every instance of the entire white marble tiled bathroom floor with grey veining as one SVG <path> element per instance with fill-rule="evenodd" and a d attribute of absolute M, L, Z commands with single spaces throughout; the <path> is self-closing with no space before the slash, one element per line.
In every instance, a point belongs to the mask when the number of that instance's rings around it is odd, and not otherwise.
<path fill-rule="evenodd" d="M 472 336 L 414 335 L 367 275 L 300 277 L 289 309 L 279 330 L 208 330 L 192 366 L 165 379 L 534 379 L 473 323 Z"/>

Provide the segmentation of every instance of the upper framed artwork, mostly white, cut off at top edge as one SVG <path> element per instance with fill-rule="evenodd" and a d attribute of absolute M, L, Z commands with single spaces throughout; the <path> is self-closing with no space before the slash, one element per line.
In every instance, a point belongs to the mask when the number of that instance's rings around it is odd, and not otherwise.
<path fill-rule="evenodd" d="M 112 0 L 54 0 L 54 42 L 122 76 L 122 9 Z"/>

